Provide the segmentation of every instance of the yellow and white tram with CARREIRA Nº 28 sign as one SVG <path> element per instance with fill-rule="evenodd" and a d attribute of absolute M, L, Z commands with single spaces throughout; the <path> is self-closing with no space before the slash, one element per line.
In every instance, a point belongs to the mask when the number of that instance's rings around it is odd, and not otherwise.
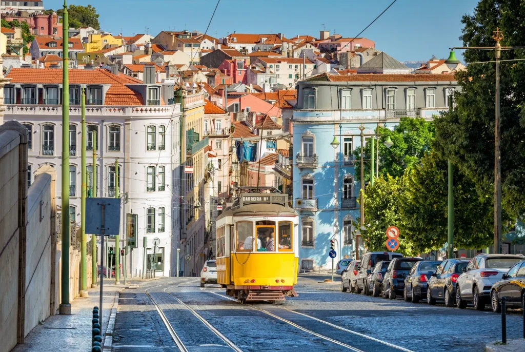
<path fill-rule="evenodd" d="M 288 194 L 241 193 L 216 221 L 217 282 L 246 301 L 297 296 L 298 214 Z"/>

